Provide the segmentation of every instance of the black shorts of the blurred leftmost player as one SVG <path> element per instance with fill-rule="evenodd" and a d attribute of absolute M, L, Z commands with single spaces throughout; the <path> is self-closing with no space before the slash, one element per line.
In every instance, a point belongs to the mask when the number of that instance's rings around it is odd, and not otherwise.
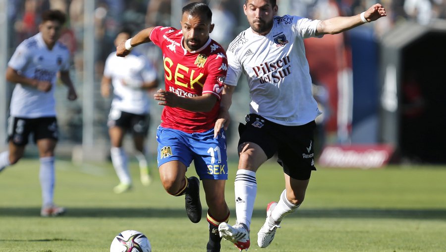
<path fill-rule="evenodd" d="M 57 140 L 59 129 L 56 117 L 41 118 L 19 118 L 9 117 L 8 119 L 8 142 L 15 145 L 28 144 L 29 135 L 33 133 L 34 142 L 37 140 L 51 138 Z"/>

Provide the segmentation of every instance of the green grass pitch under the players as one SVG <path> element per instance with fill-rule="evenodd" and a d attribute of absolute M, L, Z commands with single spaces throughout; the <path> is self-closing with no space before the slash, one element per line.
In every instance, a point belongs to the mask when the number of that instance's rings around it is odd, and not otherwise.
<path fill-rule="evenodd" d="M 134 188 L 116 195 L 110 163 L 73 165 L 56 161 L 56 203 L 64 216 L 39 216 L 39 163 L 22 160 L 0 173 L 0 252 L 108 252 L 120 231 L 147 235 L 154 252 L 206 250 L 205 215 L 193 224 L 184 198 L 169 196 L 156 168 L 143 187 L 132 163 Z M 229 165 L 226 201 L 235 221 Z M 193 169 L 188 176 L 195 174 Z M 446 251 L 446 167 L 332 169 L 313 172 L 305 202 L 288 215 L 266 249 L 257 246 L 265 207 L 283 190 L 281 168 L 267 163 L 257 173 L 258 196 L 251 225 L 250 252 L 444 252 Z M 203 190 L 202 203 L 205 203 Z M 203 206 L 203 214 L 207 207 Z M 222 252 L 237 252 L 222 242 Z"/>

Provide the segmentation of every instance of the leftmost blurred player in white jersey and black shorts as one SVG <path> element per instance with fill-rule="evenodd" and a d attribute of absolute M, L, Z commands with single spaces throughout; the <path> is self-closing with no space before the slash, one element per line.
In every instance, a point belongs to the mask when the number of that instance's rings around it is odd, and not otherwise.
<path fill-rule="evenodd" d="M 6 80 L 15 83 L 10 104 L 8 151 L 0 153 L 0 170 L 17 163 L 24 154 L 28 136 L 39 149 L 42 216 L 65 212 L 54 202 L 54 151 L 58 139 L 54 89 L 57 73 L 68 87 L 68 100 L 77 98 L 69 75 L 68 48 L 57 42 L 65 14 L 47 10 L 42 14 L 39 33 L 21 42 L 6 70 Z"/>

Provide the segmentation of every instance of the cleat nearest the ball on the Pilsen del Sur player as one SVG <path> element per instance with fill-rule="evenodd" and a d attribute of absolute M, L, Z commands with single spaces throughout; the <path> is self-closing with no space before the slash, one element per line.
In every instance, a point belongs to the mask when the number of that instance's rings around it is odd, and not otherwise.
<path fill-rule="evenodd" d="M 250 245 L 249 231 L 243 224 L 230 226 L 226 222 L 220 223 L 219 233 L 220 237 L 233 243 L 240 251 L 248 250 Z"/>

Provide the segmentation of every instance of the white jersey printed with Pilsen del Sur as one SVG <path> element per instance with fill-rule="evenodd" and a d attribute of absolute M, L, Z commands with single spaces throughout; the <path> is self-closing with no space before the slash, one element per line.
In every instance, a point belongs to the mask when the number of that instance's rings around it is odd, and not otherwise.
<path fill-rule="evenodd" d="M 307 124 L 321 114 L 311 92 L 311 77 L 303 39 L 317 37 L 319 20 L 276 16 L 265 36 L 251 28 L 241 32 L 226 51 L 225 84 L 237 85 L 246 75 L 250 113 L 285 126 Z"/>

